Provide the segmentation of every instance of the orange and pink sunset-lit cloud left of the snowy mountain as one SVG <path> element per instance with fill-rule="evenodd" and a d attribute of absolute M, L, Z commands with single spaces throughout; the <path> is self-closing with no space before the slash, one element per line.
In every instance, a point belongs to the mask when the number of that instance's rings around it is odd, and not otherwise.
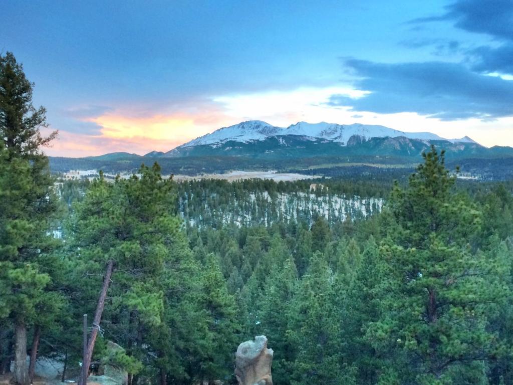
<path fill-rule="evenodd" d="M 86 106 L 52 117 L 58 140 L 46 149 L 51 156 L 83 157 L 127 151 L 140 155 L 169 151 L 221 127 L 228 118 L 213 102 L 168 106 L 157 110 L 145 105 Z"/>

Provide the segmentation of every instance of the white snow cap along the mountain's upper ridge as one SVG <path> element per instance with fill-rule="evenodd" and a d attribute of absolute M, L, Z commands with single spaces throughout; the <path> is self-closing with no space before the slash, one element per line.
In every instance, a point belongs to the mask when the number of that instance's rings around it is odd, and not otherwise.
<path fill-rule="evenodd" d="M 445 140 L 452 143 L 476 143 L 468 137 L 461 139 L 445 139 L 431 132 L 404 132 L 384 126 L 365 125 L 359 123 L 345 125 L 326 122 L 298 122 L 287 128 L 282 128 L 272 126 L 266 122 L 254 120 L 220 128 L 212 133 L 208 133 L 200 138 L 187 142 L 178 148 L 206 144 L 216 145 L 229 140 L 248 143 L 250 141 L 262 141 L 269 137 L 283 135 L 300 135 L 309 137 L 311 140 L 314 140 L 314 138 L 323 138 L 334 142 L 340 142 L 343 145 L 347 145 L 349 138 L 352 136 L 358 136 L 365 141 L 371 138 L 406 137 L 408 139 L 420 139 L 424 141 Z"/>

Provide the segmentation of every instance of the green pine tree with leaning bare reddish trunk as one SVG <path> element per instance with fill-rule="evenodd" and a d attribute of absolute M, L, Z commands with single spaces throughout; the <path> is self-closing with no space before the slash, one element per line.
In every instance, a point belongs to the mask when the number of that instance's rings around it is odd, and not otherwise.
<path fill-rule="evenodd" d="M 181 220 L 174 213 L 174 182 L 161 177 L 156 163 L 151 168 L 142 166 L 139 172 L 141 177 L 118 177 L 113 183 L 101 175 L 73 217 L 71 241 L 89 272 L 87 276 L 105 272 L 102 284 L 91 282 L 101 286 L 101 294 L 89 336 L 86 368 L 94 352 L 107 293 L 115 306 L 135 312 L 137 327 L 159 325 L 164 306 L 160 278 L 173 253 L 188 247 L 180 230 Z M 131 342 L 138 346 L 144 343 L 137 339 Z M 85 383 L 83 377 L 81 383 Z"/>

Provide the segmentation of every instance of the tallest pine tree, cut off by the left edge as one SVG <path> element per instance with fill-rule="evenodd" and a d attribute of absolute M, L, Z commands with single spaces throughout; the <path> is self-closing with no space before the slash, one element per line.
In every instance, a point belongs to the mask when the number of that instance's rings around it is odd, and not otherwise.
<path fill-rule="evenodd" d="M 14 323 L 15 380 L 21 385 L 29 382 L 27 326 L 51 281 L 38 259 L 56 246 L 53 179 L 41 151 L 56 132 L 41 136 L 46 111 L 32 105 L 33 86 L 12 53 L 0 55 L 0 292 L 3 313 Z"/>

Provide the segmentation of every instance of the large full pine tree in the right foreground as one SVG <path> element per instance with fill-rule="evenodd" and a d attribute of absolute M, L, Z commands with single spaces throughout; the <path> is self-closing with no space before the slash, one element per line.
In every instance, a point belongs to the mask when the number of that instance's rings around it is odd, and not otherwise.
<path fill-rule="evenodd" d="M 394 187 L 382 316 L 367 330 L 376 349 L 393 352 L 384 383 L 480 383 L 482 362 L 497 353 L 487 317 L 507 294 L 506 267 L 469 243 L 481 213 L 454 183 L 444 151 L 432 147 L 408 187 Z"/>

